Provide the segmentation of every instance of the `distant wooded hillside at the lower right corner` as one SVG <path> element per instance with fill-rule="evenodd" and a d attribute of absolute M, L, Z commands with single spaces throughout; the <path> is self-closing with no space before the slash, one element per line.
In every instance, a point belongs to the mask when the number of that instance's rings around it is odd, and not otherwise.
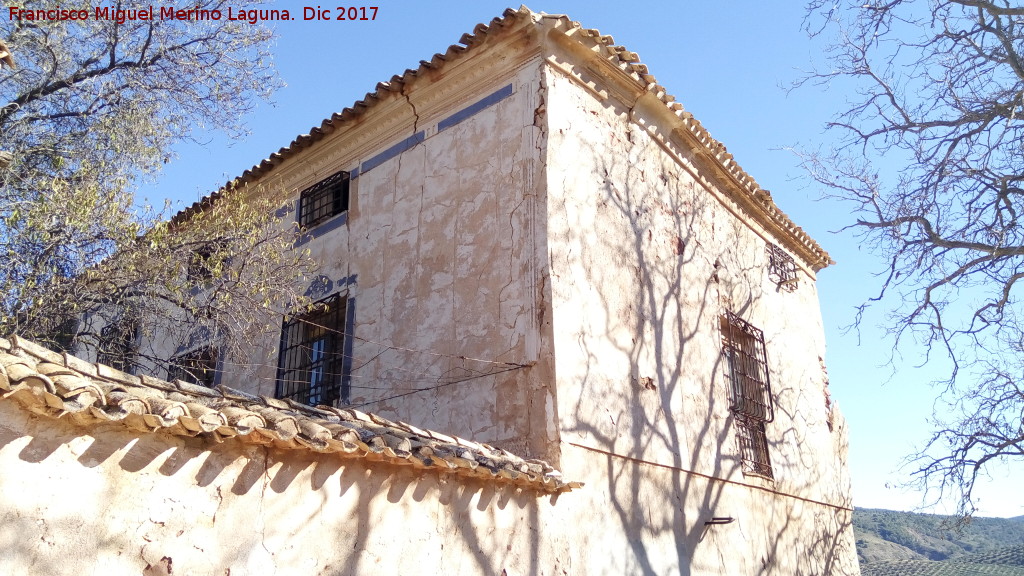
<path fill-rule="evenodd" d="M 855 510 L 853 528 L 861 572 L 864 576 L 946 573 L 1024 576 L 1024 517 L 976 518 L 962 532 L 947 528 L 948 523 L 949 517 L 937 515 Z M 897 561 L 904 561 L 902 564 L 906 566 L 896 566 Z M 922 564 L 923 561 L 932 562 Z M 885 567 L 881 566 L 883 563 Z M 953 563 L 957 567 L 947 566 Z M 985 568 L 971 568 L 974 564 Z M 882 568 L 886 570 L 876 571 Z M 935 572 L 940 568 L 951 571 Z"/>

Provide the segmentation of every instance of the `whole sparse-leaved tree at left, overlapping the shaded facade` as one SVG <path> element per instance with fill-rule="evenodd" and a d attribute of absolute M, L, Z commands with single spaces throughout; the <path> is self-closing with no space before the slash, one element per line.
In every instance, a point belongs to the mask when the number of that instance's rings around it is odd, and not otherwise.
<path fill-rule="evenodd" d="M 0 68 L 0 331 L 67 345 L 77 321 L 80 342 L 98 348 L 102 328 L 130 319 L 172 349 L 205 333 L 223 354 L 275 329 L 275 312 L 302 299 L 293 287 L 308 262 L 273 215 L 273 190 L 236 182 L 174 218 L 133 194 L 195 128 L 242 133 L 239 119 L 278 84 L 270 31 L 226 17 L 119 23 L 84 2 L 25 4 L 89 17 L 0 19 L 16 65 Z M 226 14 L 249 4 L 189 8 Z M 166 361 L 156 354 L 148 365 Z"/>

